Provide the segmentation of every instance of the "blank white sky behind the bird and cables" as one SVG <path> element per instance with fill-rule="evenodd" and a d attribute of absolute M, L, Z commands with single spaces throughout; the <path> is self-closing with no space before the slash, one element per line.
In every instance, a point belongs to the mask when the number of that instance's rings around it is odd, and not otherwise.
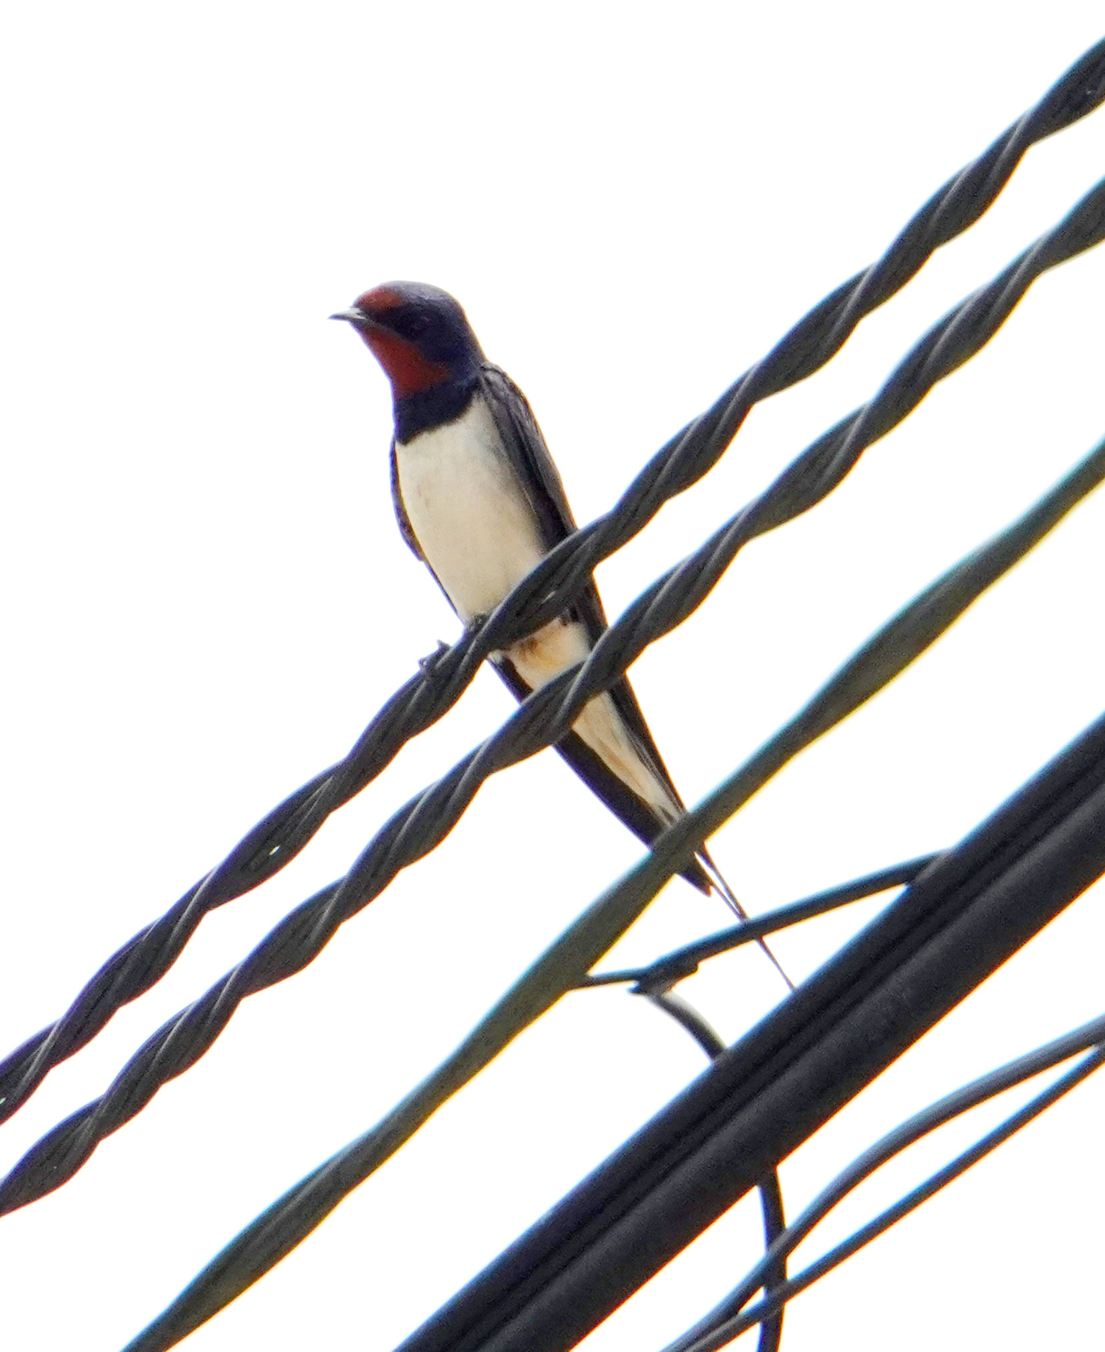
<path fill-rule="evenodd" d="M 1102 28 L 1090 0 L 12 11 L 0 1051 L 458 631 L 393 523 L 385 380 L 332 310 L 392 277 L 453 291 L 588 521 Z M 1032 150 L 966 238 L 601 568 L 608 610 L 867 399 L 1102 162 L 1105 112 Z M 690 802 L 1105 434 L 1102 295 L 1102 250 L 1036 283 L 981 357 L 636 664 Z M 1104 526 L 1100 493 L 717 834 L 750 909 L 952 844 L 1100 714 Z M 0 1132 L 0 1165 L 509 710 L 484 673 L 285 873 L 209 917 Z M 307 972 L 0 1224 L 5 1347 L 119 1348 L 639 853 L 551 752 L 489 783 Z M 790 972 L 882 900 L 779 936 Z M 1100 911 L 1086 894 L 788 1161 L 789 1213 L 906 1113 L 1098 1014 Z M 724 923 L 675 880 L 608 961 Z M 731 1038 L 779 995 L 754 950 L 681 990 Z M 623 991 L 570 996 L 189 1349 L 386 1352 L 701 1067 Z M 1087 1345 L 1102 1111 L 1098 1079 L 796 1301 L 783 1345 Z M 800 1257 L 996 1115 L 888 1171 Z M 758 1244 L 747 1199 L 586 1347 L 659 1348 Z"/>

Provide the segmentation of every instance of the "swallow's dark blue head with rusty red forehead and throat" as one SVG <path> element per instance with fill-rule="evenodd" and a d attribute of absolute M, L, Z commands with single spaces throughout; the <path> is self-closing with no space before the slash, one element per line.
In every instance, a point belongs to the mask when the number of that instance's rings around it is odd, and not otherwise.
<path fill-rule="evenodd" d="M 397 400 L 474 376 L 484 360 L 461 306 L 426 283 L 386 281 L 330 318 L 361 334 Z"/>

